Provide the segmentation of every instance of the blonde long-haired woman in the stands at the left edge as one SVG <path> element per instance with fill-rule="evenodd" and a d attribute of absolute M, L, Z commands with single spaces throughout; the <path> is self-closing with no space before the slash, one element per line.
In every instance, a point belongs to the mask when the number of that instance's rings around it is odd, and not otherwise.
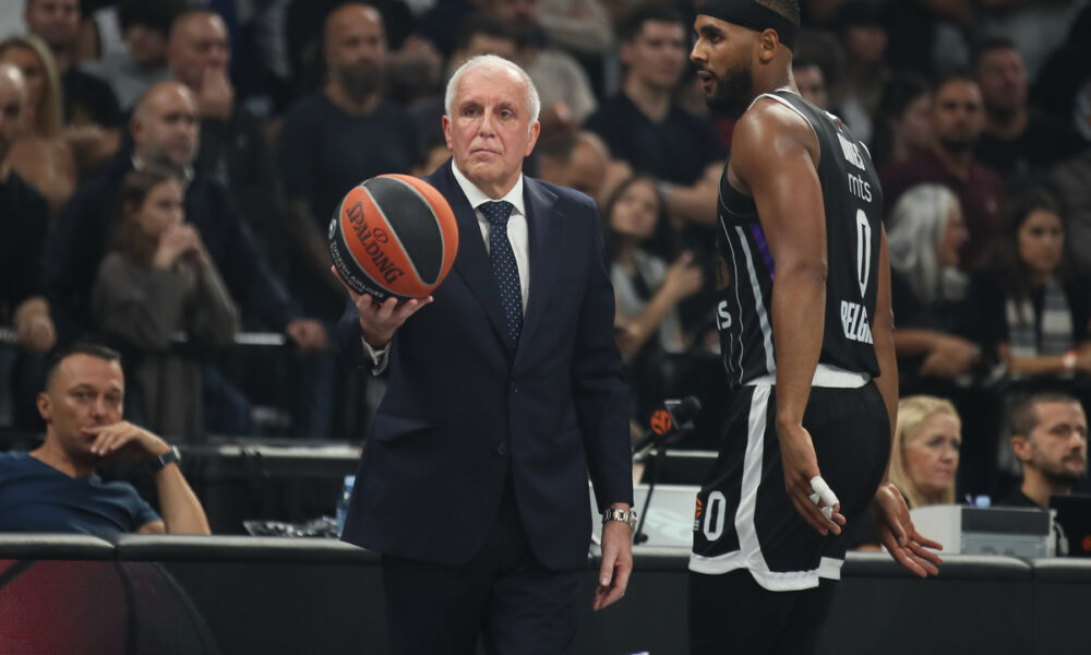
<path fill-rule="evenodd" d="M 46 196 L 50 213 L 56 214 L 75 191 L 79 171 L 64 138 L 53 57 L 38 37 L 13 36 L 0 43 L 0 62 L 19 67 L 28 96 L 27 129 L 4 162 Z"/>

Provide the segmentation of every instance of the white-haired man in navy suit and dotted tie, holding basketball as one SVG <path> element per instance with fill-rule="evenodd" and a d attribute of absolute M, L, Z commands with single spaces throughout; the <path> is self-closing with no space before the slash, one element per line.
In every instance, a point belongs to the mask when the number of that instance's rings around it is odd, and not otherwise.
<path fill-rule="evenodd" d="M 343 539 L 383 555 L 391 653 L 570 652 L 591 521 L 603 512 L 596 609 L 632 571 L 626 389 L 599 216 L 586 195 L 523 175 L 538 93 L 516 64 L 452 76 L 453 158 L 424 178 L 451 204 L 443 285 L 396 305 L 350 291 L 337 334 L 389 385 Z M 419 313 L 418 313 L 419 312 Z"/>

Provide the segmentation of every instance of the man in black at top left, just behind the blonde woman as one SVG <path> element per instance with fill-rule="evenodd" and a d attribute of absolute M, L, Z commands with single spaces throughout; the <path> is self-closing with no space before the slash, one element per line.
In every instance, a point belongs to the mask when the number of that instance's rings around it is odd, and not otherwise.
<path fill-rule="evenodd" d="M 64 123 L 117 127 L 121 111 L 110 85 L 77 66 L 80 13 L 80 0 L 27 0 L 23 17 L 27 31 L 41 38 L 52 52 L 60 75 Z"/>

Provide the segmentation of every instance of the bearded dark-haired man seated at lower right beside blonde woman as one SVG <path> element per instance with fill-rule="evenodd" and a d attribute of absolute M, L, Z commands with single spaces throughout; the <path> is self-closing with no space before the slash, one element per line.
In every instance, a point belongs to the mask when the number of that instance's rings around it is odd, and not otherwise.
<path fill-rule="evenodd" d="M 1088 469 L 1083 405 L 1064 393 L 1038 393 L 1011 413 L 1011 450 L 1022 484 L 997 505 L 1048 509 L 1051 496 L 1069 496 Z"/>

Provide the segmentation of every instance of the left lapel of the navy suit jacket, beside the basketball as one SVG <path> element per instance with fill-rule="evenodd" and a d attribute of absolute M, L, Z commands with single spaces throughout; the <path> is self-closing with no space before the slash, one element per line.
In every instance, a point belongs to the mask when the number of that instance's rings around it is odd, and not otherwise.
<path fill-rule="evenodd" d="M 454 270 L 466 281 L 466 285 L 489 315 L 496 336 L 511 350 L 512 344 L 504 336 L 506 331 L 504 308 L 500 303 L 500 290 L 492 275 L 492 263 L 484 249 L 484 239 L 481 238 L 481 227 L 478 225 L 473 207 L 466 200 L 466 194 L 451 172 L 453 165 L 452 160 L 447 159 L 447 163 L 425 178 L 425 181 L 447 199 L 458 223 L 458 254 L 455 257 Z"/>

